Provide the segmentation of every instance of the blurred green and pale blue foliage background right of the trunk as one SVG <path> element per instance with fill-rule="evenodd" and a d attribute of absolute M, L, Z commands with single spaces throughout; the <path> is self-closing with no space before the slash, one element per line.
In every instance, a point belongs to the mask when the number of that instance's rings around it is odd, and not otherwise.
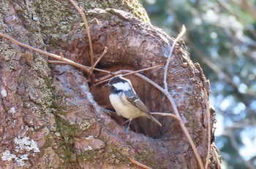
<path fill-rule="evenodd" d="M 256 1 L 140 0 L 151 23 L 184 42 L 211 82 L 223 168 L 256 168 Z"/>

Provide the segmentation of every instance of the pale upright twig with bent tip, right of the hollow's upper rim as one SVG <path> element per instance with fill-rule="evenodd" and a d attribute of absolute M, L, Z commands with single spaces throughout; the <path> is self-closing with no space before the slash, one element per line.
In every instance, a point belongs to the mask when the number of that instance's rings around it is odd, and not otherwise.
<path fill-rule="evenodd" d="M 167 61 L 166 61 L 166 65 L 165 65 L 165 73 L 164 73 L 164 85 L 165 85 L 165 90 L 167 90 L 167 70 L 168 70 L 168 66 L 170 64 L 170 58 L 171 56 L 173 55 L 173 50 L 174 50 L 174 47 L 176 45 L 176 43 L 178 42 L 179 39 L 181 39 L 181 36 L 183 36 L 183 34 L 185 33 L 186 31 L 186 28 L 184 25 L 182 25 L 182 28 L 181 28 L 181 33 L 178 34 L 177 38 L 175 39 L 175 41 L 173 42 L 173 46 L 170 48 L 170 53 L 168 55 L 168 58 L 167 58 Z"/>

